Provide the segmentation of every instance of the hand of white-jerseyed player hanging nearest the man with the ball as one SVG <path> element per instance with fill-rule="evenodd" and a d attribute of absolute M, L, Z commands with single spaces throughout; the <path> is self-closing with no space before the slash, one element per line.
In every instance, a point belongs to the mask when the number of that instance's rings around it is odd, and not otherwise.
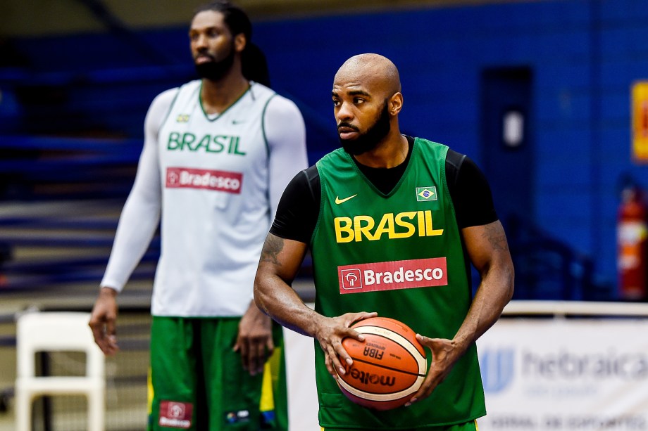
<path fill-rule="evenodd" d="M 272 319 L 252 302 L 239 322 L 234 351 L 240 352 L 243 368 L 250 375 L 256 375 L 263 372 L 263 366 L 274 349 Z"/>

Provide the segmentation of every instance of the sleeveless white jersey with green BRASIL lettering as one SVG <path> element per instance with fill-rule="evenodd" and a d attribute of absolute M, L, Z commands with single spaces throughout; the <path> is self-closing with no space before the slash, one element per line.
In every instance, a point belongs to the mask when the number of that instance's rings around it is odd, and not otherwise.
<path fill-rule="evenodd" d="M 208 118 L 200 89 L 199 80 L 180 87 L 158 134 L 156 316 L 242 316 L 270 228 L 263 113 L 275 92 L 252 83 L 230 108 Z"/>

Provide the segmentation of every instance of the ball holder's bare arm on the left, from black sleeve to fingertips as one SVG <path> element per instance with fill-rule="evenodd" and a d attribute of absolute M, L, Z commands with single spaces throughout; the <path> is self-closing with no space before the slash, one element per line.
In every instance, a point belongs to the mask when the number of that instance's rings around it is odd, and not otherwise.
<path fill-rule="evenodd" d="M 342 361 L 353 361 L 342 347 L 342 338 L 363 340 L 349 328 L 355 321 L 375 316 L 375 313 L 347 313 L 325 317 L 307 307 L 292 287 L 292 281 L 306 255 L 306 244 L 287 240 L 268 233 L 263 245 L 254 280 L 254 300 L 261 311 L 285 326 L 303 335 L 317 338 L 325 353 L 328 372 L 337 378 L 344 374 Z M 337 373 L 336 373 L 337 370 Z"/>

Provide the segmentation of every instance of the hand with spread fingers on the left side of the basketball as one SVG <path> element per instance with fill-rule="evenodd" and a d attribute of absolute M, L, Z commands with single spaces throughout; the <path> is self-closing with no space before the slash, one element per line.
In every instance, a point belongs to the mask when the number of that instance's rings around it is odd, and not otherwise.
<path fill-rule="evenodd" d="M 364 341 L 363 335 L 351 329 L 350 326 L 357 321 L 375 316 L 378 316 L 378 313 L 361 311 L 359 313 L 346 313 L 337 317 L 324 317 L 318 323 L 315 336 L 324 351 L 326 369 L 333 378 L 337 379 L 338 375 L 347 372 L 344 365 L 342 365 L 342 361 L 347 365 L 353 364 L 353 359 L 342 347 L 342 340 L 345 337 L 352 337 Z"/>

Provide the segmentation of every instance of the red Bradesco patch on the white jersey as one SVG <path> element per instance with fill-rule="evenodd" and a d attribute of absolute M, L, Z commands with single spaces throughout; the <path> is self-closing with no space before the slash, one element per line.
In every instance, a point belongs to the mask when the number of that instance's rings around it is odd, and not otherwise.
<path fill-rule="evenodd" d="M 188 167 L 166 168 L 167 188 L 206 188 L 208 190 L 241 193 L 243 174 Z"/>

